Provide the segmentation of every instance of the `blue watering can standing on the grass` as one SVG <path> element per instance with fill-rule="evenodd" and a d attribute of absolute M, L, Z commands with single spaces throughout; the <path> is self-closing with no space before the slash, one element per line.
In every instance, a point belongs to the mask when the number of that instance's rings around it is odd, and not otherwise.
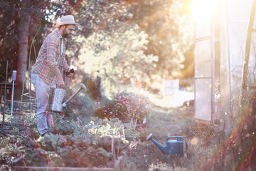
<path fill-rule="evenodd" d="M 149 134 L 146 138 L 146 140 L 151 140 L 154 142 L 154 144 L 159 147 L 159 149 L 164 152 L 166 155 L 184 155 L 183 152 L 183 140 L 186 142 L 186 140 L 182 136 L 171 136 L 166 138 L 166 146 L 162 146 L 159 144 L 159 142 L 156 142 L 152 138 L 152 133 Z M 169 140 L 169 139 L 174 139 L 174 140 Z M 186 151 L 188 150 L 188 144 L 186 142 Z M 185 151 L 185 152 L 186 152 Z"/>

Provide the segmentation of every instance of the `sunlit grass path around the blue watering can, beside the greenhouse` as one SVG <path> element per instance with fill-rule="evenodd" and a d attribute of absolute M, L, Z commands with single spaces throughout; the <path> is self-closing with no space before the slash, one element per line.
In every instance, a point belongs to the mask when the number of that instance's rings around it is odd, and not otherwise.
<path fill-rule="evenodd" d="M 129 150 L 129 160 L 137 170 L 202 170 L 224 140 L 221 130 L 194 120 L 192 108 L 171 108 L 172 98 L 149 95 L 152 103 L 149 120 L 139 134 L 136 147 Z M 188 151 L 183 157 L 165 155 L 154 142 L 146 141 L 150 133 L 162 146 L 166 145 L 168 136 L 183 136 Z"/>

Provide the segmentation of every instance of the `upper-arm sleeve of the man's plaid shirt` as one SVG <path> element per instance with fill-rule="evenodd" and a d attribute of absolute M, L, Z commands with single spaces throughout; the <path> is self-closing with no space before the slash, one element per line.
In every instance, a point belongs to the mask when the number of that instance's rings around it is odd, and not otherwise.
<path fill-rule="evenodd" d="M 46 40 L 46 61 L 50 68 L 58 67 L 58 63 L 55 59 L 55 53 L 57 52 L 58 43 L 59 41 L 56 38 L 48 37 Z"/>

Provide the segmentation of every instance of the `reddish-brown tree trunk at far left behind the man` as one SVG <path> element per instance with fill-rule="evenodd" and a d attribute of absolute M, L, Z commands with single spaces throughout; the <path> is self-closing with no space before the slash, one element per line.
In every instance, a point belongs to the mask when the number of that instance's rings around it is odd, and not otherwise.
<path fill-rule="evenodd" d="M 18 67 L 16 95 L 21 95 L 23 80 L 26 79 L 26 64 L 28 58 L 28 28 L 31 14 L 28 8 L 29 0 L 23 0 L 21 4 L 21 21 L 18 26 Z"/>

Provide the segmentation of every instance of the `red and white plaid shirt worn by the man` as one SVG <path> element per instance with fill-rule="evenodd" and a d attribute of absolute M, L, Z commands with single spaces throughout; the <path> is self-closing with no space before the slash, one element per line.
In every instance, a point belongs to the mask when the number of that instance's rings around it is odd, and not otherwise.
<path fill-rule="evenodd" d="M 61 38 L 63 39 L 63 46 L 61 46 Z M 48 85 L 52 85 L 53 79 L 55 78 L 52 68 L 57 66 L 61 71 L 64 63 L 67 63 L 65 59 L 66 43 L 66 38 L 61 36 L 59 30 L 50 33 L 45 41 L 43 41 L 38 58 L 36 58 L 36 63 L 33 66 L 32 73 L 38 73 L 40 78 Z M 63 53 L 60 54 L 62 47 Z"/>

